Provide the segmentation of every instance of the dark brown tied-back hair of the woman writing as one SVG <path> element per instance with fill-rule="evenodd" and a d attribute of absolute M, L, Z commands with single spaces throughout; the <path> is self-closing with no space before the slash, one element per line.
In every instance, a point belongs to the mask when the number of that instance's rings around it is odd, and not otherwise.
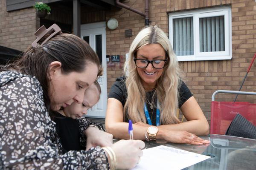
<path fill-rule="evenodd" d="M 49 35 L 45 35 L 38 43 L 41 44 Z M 100 68 L 99 57 L 87 42 L 73 34 L 57 34 L 41 47 L 30 46 L 21 59 L 6 65 L 1 71 L 14 69 L 35 76 L 42 86 L 45 106 L 50 111 L 50 81 L 47 74 L 50 63 L 54 61 L 61 62 L 62 74 L 73 71 L 81 73 L 89 63 Z"/>

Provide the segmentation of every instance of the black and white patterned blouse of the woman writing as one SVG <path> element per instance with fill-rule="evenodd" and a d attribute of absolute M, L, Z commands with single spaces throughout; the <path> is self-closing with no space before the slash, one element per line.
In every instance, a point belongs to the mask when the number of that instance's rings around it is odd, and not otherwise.
<path fill-rule="evenodd" d="M 79 122 L 81 131 L 91 124 L 85 119 Z M 62 155 L 54 136 L 55 122 L 38 80 L 16 71 L 0 72 L 0 170 L 109 169 L 100 147 Z"/>

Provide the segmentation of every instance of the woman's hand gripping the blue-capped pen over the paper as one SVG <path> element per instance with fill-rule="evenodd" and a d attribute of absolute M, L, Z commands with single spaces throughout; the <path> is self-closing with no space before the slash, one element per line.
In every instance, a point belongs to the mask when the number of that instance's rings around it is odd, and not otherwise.
<path fill-rule="evenodd" d="M 129 170 L 136 166 L 139 157 L 143 156 L 141 149 L 145 143 L 140 140 L 120 140 L 113 144 L 111 148 L 116 153 L 118 170 Z"/>

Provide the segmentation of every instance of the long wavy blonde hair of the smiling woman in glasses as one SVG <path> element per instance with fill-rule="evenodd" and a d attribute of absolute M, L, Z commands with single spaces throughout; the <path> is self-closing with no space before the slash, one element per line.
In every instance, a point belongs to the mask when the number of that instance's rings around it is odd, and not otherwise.
<path fill-rule="evenodd" d="M 140 121 L 146 123 L 145 113 L 143 110 L 146 91 L 143 87 L 141 78 L 137 72 L 137 66 L 133 59 L 134 54 L 136 55 L 137 51 L 141 47 L 148 44 L 162 45 L 168 55 L 168 62 L 163 68 L 162 75 L 157 79 L 157 86 L 153 94 L 153 96 L 157 96 L 158 104 L 160 106 L 160 125 L 180 123 L 179 119 L 175 116 L 178 108 L 178 89 L 181 85 L 180 67 L 168 37 L 157 26 L 148 26 L 143 28 L 131 44 L 129 57 L 124 66 L 128 95 L 123 109 L 124 121 L 125 116 L 128 116 L 133 123 Z"/>

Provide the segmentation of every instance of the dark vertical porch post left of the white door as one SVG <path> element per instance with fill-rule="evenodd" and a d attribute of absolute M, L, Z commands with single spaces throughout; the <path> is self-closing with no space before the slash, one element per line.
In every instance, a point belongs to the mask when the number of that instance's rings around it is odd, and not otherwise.
<path fill-rule="evenodd" d="M 80 0 L 73 0 L 73 28 L 74 35 L 81 37 L 81 3 Z"/>

